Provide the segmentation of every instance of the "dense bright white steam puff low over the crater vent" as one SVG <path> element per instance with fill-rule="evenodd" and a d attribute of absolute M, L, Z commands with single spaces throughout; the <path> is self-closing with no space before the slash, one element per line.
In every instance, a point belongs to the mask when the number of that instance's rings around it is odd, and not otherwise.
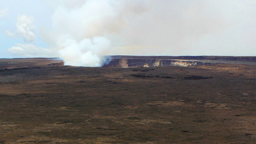
<path fill-rule="evenodd" d="M 71 36 L 63 35 L 58 40 L 60 58 L 72 66 L 102 66 L 108 59 L 103 55 L 109 46 L 110 40 L 102 36 L 77 42 Z"/>

